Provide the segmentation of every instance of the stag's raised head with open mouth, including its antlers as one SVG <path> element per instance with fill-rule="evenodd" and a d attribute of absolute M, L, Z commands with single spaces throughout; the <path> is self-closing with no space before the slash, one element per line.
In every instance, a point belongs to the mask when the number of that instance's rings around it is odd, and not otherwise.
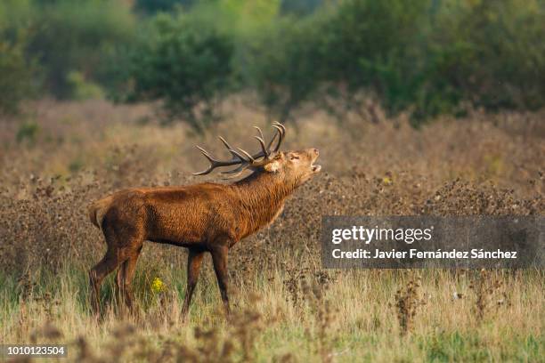
<path fill-rule="evenodd" d="M 281 142 L 286 134 L 284 125 L 279 123 L 273 124 L 276 133 L 274 133 L 273 138 L 268 143 L 265 143 L 261 129 L 257 126 L 254 126 L 254 128 L 256 128 L 258 133 L 258 135 L 254 137 L 259 142 L 261 151 L 251 155 L 244 149 L 234 149 L 229 142 L 225 141 L 225 139 L 220 136 L 219 140 L 222 141 L 225 148 L 229 150 L 232 159 L 226 161 L 218 160 L 215 157 L 212 157 L 207 150 L 197 146 L 202 154 L 207 157 L 210 166 L 207 170 L 193 174 L 205 175 L 211 173 L 216 167 L 237 165 L 236 168 L 222 173 L 232 174 L 230 178 L 234 178 L 246 170 L 252 170 L 255 173 L 269 173 L 275 179 L 293 181 L 296 185 L 300 185 L 310 179 L 313 174 L 320 172 L 321 165 L 313 164 L 318 158 L 318 149 L 280 151 Z M 278 141 L 273 147 L 273 143 L 277 138 Z"/>

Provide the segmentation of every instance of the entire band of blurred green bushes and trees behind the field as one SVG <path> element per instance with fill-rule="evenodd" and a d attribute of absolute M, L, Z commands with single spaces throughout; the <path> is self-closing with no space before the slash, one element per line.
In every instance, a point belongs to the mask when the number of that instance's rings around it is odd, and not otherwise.
<path fill-rule="evenodd" d="M 232 94 L 270 117 L 378 102 L 413 125 L 545 102 L 542 0 L 3 0 L 0 113 L 154 101 L 202 130 Z"/>

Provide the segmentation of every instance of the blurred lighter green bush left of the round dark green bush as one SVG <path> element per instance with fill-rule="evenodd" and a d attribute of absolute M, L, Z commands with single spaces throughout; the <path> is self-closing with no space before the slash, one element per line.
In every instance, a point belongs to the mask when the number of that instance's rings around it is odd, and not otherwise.
<path fill-rule="evenodd" d="M 134 42 L 136 18 L 131 8 L 115 0 L 55 0 L 35 5 L 37 28 L 30 52 L 45 71 L 45 87 L 59 98 L 72 98 L 70 72 L 108 84 L 104 62 L 115 48 Z"/>

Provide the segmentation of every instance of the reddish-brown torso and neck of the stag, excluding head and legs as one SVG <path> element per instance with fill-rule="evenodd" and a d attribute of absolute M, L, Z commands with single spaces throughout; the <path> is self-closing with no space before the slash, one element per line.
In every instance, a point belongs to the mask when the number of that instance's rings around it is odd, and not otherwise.
<path fill-rule="evenodd" d="M 95 202 L 90 218 L 101 229 L 130 225 L 144 240 L 175 246 L 206 249 L 220 236 L 236 243 L 280 214 L 292 190 L 272 179 L 121 190 Z"/>

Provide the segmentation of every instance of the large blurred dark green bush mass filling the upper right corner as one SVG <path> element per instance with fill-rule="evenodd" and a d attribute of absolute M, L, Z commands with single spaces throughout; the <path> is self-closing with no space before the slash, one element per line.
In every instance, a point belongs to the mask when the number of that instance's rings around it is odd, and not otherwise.
<path fill-rule="evenodd" d="M 326 79 L 371 92 L 413 123 L 468 108 L 545 104 L 545 12 L 538 1 L 341 3 L 327 26 Z"/>

